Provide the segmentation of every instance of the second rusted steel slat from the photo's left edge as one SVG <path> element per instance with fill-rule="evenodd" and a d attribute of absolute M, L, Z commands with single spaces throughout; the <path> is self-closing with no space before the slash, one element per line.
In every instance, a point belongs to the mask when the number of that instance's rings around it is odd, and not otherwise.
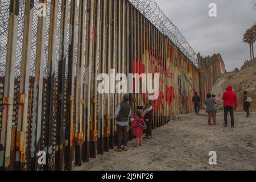
<path fill-rule="evenodd" d="M 29 97 L 29 66 L 31 54 L 31 36 L 32 22 L 34 15 L 34 0 L 26 1 L 25 18 L 23 30 L 23 46 L 22 46 L 22 65 L 19 83 L 19 113 L 18 127 L 15 153 L 15 169 L 24 170 L 24 162 L 26 155 L 26 132 L 27 132 L 27 114 L 28 114 L 28 97 Z"/>

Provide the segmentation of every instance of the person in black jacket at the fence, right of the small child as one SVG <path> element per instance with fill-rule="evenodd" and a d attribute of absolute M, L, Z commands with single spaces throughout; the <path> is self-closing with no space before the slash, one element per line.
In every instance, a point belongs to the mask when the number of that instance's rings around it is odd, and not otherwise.
<path fill-rule="evenodd" d="M 152 138 L 152 119 L 153 119 L 152 101 L 146 98 L 146 104 L 144 104 L 144 106 L 138 106 L 137 109 L 140 109 L 143 111 L 144 121 L 146 122 L 146 125 L 147 125 L 146 135 L 144 138 L 151 139 Z"/>

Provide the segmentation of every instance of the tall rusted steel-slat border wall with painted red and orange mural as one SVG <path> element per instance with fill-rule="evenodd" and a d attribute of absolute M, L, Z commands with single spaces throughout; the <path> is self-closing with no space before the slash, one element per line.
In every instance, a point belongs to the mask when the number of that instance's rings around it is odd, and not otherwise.
<path fill-rule="evenodd" d="M 100 73 L 159 73 L 156 129 L 191 113 L 193 94 L 204 96 L 222 68 L 199 72 L 126 0 L 2 0 L 0 41 L 1 170 L 71 170 L 113 149 L 122 94 L 99 94 Z M 130 94 L 133 114 L 145 98 Z"/>

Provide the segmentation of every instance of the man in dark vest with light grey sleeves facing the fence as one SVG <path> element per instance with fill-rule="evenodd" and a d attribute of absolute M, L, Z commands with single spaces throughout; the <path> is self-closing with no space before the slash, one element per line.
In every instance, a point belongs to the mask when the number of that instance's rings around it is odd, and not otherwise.
<path fill-rule="evenodd" d="M 128 103 L 129 95 L 125 94 L 123 96 L 123 101 L 118 105 L 115 110 L 115 119 L 117 119 L 117 148 L 115 152 L 127 151 L 127 127 L 129 123 L 129 118 L 131 117 L 131 107 Z M 123 139 L 123 147 L 122 147 Z"/>

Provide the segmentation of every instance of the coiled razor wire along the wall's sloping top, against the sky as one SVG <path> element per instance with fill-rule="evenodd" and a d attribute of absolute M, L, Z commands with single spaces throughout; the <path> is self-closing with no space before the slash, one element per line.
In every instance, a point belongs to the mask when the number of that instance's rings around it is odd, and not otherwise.
<path fill-rule="evenodd" d="M 179 28 L 163 13 L 155 0 L 130 0 L 130 2 L 148 19 L 163 35 L 168 38 L 198 67 L 197 54 L 179 31 Z"/>

